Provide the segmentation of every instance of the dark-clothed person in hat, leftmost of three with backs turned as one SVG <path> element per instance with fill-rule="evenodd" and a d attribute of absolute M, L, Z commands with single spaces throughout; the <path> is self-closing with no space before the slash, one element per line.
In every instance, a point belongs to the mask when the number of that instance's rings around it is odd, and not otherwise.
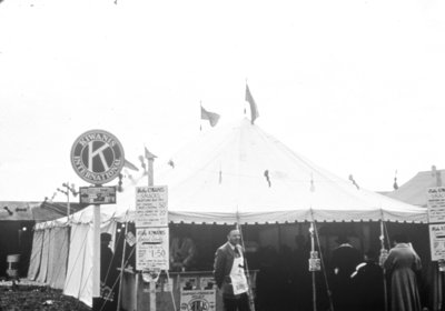
<path fill-rule="evenodd" d="M 335 310 L 356 310 L 355 297 L 353 292 L 352 274 L 358 263 L 363 261 L 362 254 L 350 243 L 345 234 L 338 235 L 336 242 L 338 247 L 334 249 L 330 260 L 334 283 L 333 302 Z"/>

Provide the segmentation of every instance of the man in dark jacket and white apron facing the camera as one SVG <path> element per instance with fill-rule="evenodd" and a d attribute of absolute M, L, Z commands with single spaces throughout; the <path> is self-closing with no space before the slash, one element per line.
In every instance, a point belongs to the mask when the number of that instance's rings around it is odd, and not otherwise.
<path fill-rule="evenodd" d="M 240 239 L 239 230 L 231 230 L 227 235 L 228 241 L 215 253 L 214 275 L 222 292 L 225 311 L 250 311 Z"/>

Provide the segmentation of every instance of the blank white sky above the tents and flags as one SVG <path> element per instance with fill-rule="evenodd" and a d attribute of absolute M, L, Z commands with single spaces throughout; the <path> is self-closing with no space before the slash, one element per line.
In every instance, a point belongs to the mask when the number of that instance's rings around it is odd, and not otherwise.
<path fill-rule="evenodd" d="M 339 177 L 392 190 L 396 170 L 445 169 L 444 17 L 439 0 L 4 0 L 0 200 L 86 185 L 70 151 L 90 129 L 167 161 L 200 100 L 243 117 L 246 78 L 256 124 Z"/>

